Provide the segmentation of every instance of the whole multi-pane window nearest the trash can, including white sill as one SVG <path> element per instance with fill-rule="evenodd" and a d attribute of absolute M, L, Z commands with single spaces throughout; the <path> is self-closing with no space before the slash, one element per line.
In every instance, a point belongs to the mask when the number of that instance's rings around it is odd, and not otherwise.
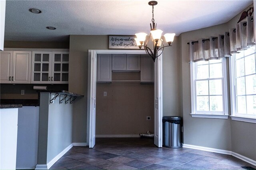
<path fill-rule="evenodd" d="M 192 117 L 228 119 L 226 59 L 191 63 Z"/>

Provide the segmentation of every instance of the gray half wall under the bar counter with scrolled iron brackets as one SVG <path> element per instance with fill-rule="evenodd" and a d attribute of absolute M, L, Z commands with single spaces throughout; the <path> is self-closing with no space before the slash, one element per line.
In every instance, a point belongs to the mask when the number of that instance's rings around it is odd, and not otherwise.
<path fill-rule="evenodd" d="M 40 93 L 38 164 L 47 164 L 72 144 L 73 104 L 49 105 L 50 93 Z M 75 102 L 74 102 L 75 103 Z"/>

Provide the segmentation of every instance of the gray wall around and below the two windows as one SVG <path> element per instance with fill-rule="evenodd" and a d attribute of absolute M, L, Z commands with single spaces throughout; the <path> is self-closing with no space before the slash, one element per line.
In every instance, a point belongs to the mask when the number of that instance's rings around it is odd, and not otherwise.
<path fill-rule="evenodd" d="M 209 36 L 223 34 L 225 31 L 228 31 L 229 28 L 235 27 L 240 16 L 241 13 L 225 24 L 185 32 L 180 35 L 180 56 L 182 58 L 180 61 L 180 71 L 182 72 L 182 77 L 180 79 L 180 85 L 182 85 L 180 102 L 182 108 L 180 110 L 184 119 L 184 144 L 231 150 L 256 160 L 256 124 L 232 121 L 230 118 L 206 119 L 192 118 L 190 116 L 190 64 L 188 63 L 189 54 L 187 42 L 190 40 L 198 40 L 199 38 L 209 38 Z M 227 75 L 229 83 L 228 72 Z"/>

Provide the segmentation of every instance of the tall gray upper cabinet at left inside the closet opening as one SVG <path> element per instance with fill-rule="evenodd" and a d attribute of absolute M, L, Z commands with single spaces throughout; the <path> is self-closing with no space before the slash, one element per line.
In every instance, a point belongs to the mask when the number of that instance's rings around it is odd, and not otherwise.
<path fill-rule="evenodd" d="M 112 81 L 112 55 L 98 54 L 97 55 L 97 82 L 108 83 Z"/>

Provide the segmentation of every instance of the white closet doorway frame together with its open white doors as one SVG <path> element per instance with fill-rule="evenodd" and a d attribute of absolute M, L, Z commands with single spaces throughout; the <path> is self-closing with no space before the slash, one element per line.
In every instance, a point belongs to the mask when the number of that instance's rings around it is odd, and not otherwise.
<path fill-rule="evenodd" d="M 161 52 L 161 51 L 159 51 Z M 142 50 L 89 50 L 88 51 L 88 110 L 87 144 L 95 145 L 96 137 L 96 88 L 98 54 L 145 54 Z M 104 95 L 104 93 L 103 93 Z M 146 118 L 145 118 L 146 119 Z M 162 147 L 162 55 L 154 63 L 154 144 Z"/>

